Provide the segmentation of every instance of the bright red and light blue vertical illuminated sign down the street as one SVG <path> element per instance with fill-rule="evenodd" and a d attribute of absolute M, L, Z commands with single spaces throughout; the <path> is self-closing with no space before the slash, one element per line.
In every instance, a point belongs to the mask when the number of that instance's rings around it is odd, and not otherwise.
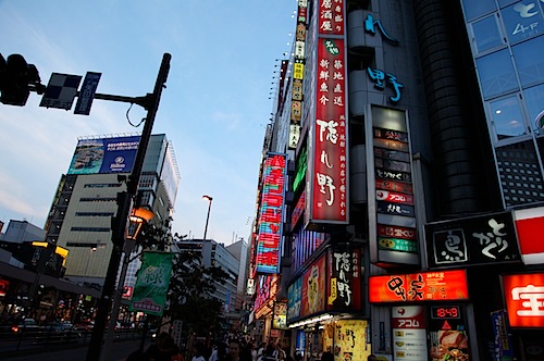
<path fill-rule="evenodd" d="M 257 238 L 259 273 L 277 273 L 283 229 L 287 155 L 268 153 L 262 176 L 262 200 Z"/>

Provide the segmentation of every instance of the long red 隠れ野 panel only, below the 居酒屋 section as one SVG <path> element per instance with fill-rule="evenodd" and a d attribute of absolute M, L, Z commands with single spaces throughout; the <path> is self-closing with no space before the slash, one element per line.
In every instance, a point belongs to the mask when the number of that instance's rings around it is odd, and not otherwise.
<path fill-rule="evenodd" d="M 347 223 L 346 65 L 343 39 L 318 39 L 309 221 Z"/>

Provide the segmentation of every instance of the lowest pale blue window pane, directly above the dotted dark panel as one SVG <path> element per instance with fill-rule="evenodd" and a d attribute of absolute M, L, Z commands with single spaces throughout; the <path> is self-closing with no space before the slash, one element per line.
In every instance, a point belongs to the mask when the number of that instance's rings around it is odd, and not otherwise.
<path fill-rule="evenodd" d="M 492 101 L 491 116 L 497 139 L 506 139 L 526 134 L 526 125 L 517 96 Z"/>

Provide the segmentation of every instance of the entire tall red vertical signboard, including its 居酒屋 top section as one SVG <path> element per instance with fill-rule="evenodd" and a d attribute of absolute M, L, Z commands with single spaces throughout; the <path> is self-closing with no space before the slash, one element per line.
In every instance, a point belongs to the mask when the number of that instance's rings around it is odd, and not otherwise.
<path fill-rule="evenodd" d="M 347 80 L 344 1 L 320 1 L 310 121 L 307 223 L 348 223 Z"/>

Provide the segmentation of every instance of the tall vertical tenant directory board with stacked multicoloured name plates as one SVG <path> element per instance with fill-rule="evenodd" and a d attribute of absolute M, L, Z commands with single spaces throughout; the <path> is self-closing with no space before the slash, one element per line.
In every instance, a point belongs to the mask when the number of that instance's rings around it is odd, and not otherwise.
<path fill-rule="evenodd" d="M 367 108 L 369 246 L 373 263 L 418 264 L 418 233 L 408 119 L 405 111 Z"/>

